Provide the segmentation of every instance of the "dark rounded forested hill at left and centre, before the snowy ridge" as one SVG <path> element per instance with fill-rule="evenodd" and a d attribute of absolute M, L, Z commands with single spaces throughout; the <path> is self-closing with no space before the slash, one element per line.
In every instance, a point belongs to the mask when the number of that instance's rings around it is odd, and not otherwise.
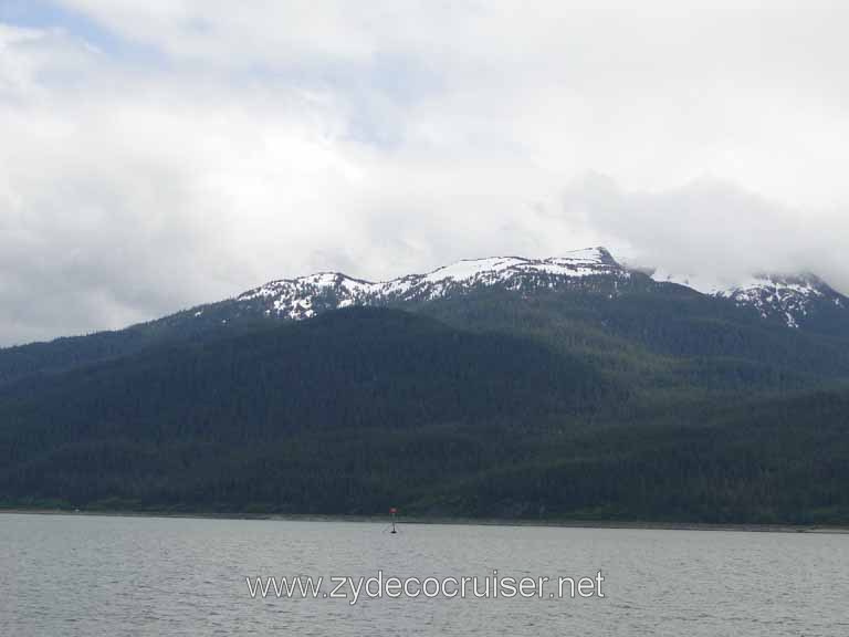
<path fill-rule="evenodd" d="M 117 498 L 210 507 L 223 498 L 233 510 L 252 501 L 243 481 L 275 450 L 273 462 L 287 467 L 303 490 L 279 507 L 301 508 L 308 493 L 323 499 L 324 510 L 339 512 L 348 507 L 345 467 L 374 462 L 367 472 L 379 476 L 389 461 L 349 457 L 345 440 L 403 445 L 418 436 L 410 431 L 428 431 L 438 438 L 436 452 L 472 431 L 516 437 L 563 426 L 619 396 L 591 366 L 533 342 L 352 309 L 153 348 L 55 375 L 46 385 L 7 386 L 0 390 L 0 493 L 7 502 L 75 505 Z M 418 442 L 410 445 L 405 452 L 432 474 L 428 457 L 416 452 Z M 328 458 L 339 464 L 328 466 Z M 334 491 L 305 483 L 304 467 L 324 472 Z M 217 494 L 218 484 L 231 480 L 242 485 L 226 498 Z M 358 507 L 373 499 L 367 492 L 357 498 Z"/>

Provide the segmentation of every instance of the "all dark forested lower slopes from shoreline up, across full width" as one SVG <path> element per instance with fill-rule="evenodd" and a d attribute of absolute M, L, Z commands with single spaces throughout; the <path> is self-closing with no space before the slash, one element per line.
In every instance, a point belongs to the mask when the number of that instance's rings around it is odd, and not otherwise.
<path fill-rule="evenodd" d="M 651 400 L 384 309 L 0 390 L 7 505 L 849 522 L 849 391 Z"/>

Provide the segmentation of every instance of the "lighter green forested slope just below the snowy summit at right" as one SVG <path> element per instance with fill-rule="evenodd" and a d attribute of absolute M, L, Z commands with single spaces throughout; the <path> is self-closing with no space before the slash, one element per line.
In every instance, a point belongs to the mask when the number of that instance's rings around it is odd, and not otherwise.
<path fill-rule="evenodd" d="M 788 330 L 727 300 L 658 286 L 637 273 L 616 294 L 489 289 L 419 312 L 455 327 L 533 337 L 650 390 L 786 391 L 849 377 L 845 341 Z"/>

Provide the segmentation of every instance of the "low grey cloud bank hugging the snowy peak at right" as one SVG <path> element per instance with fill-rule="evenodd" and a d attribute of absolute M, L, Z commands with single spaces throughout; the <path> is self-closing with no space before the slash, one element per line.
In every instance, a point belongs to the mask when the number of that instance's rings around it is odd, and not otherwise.
<path fill-rule="evenodd" d="M 636 267 L 731 284 L 759 272 L 815 272 L 849 291 L 849 209 L 803 212 L 708 179 L 628 191 L 591 175 L 566 189 L 564 210 Z"/>

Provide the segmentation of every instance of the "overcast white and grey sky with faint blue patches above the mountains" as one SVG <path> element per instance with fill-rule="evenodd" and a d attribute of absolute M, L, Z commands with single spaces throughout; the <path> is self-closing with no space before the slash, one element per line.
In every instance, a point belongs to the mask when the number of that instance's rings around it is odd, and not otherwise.
<path fill-rule="evenodd" d="M 849 292 L 849 2 L 0 0 L 0 346 L 606 246 Z"/>

